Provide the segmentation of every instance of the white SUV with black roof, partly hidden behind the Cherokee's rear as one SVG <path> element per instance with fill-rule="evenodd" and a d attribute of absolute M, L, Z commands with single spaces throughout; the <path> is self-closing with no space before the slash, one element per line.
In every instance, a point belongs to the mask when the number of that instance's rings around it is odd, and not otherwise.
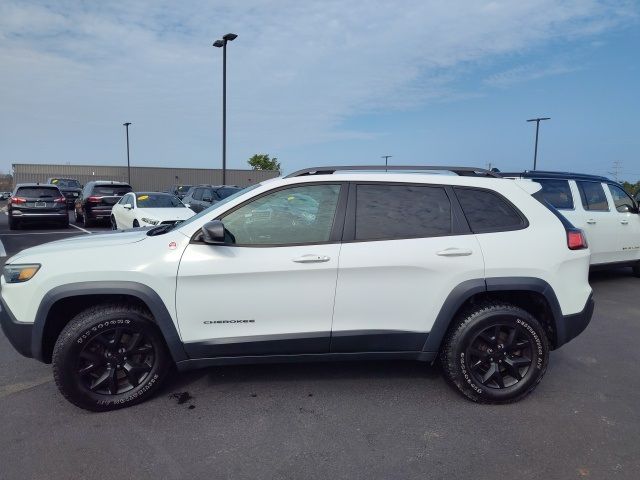
<path fill-rule="evenodd" d="M 638 204 L 622 185 L 606 177 L 579 173 L 535 170 L 501 175 L 542 185 L 539 195 L 584 230 L 592 266 L 630 266 L 640 276 Z"/>

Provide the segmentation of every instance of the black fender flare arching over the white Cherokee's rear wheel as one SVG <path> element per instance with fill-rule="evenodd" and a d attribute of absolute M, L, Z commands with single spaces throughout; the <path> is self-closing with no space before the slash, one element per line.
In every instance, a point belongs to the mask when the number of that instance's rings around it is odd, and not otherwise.
<path fill-rule="evenodd" d="M 560 309 L 558 297 L 551 285 L 537 277 L 492 277 L 467 280 L 456 286 L 440 308 L 433 327 L 429 332 L 427 341 L 422 348 L 423 352 L 437 353 L 440 344 L 449 325 L 455 319 L 455 314 L 464 303 L 474 295 L 482 292 L 535 292 L 542 295 L 551 309 L 553 323 L 556 330 L 556 346 L 564 343 L 565 322 Z"/>

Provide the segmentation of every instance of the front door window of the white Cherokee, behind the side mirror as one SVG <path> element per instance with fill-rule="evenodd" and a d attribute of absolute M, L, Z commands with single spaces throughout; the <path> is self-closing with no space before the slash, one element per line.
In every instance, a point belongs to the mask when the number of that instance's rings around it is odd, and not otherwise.
<path fill-rule="evenodd" d="M 239 245 L 327 242 L 340 185 L 305 185 L 259 197 L 222 217 Z"/>

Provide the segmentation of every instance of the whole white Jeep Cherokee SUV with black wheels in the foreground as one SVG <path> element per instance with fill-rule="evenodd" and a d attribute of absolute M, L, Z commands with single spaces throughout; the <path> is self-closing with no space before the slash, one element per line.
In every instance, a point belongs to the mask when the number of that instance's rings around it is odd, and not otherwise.
<path fill-rule="evenodd" d="M 175 226 L 24 250 L 2 327 L 89 410 L 149 398 L 173 363 L 316 359 L 439 358 L 471 400 L 522 398 L 591 318 L 582 232 L 534 182 L 380 169 L 306 169 Z"/>

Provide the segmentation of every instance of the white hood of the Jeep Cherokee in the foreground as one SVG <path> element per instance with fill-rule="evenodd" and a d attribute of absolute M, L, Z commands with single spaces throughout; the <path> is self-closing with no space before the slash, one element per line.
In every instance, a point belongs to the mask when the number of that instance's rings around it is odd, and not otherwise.
<path fill-rule="evenodd" d="M 90 235 L 78 235 L 76 237 L 65 238 L 63 240 L 56 240 L 49 243 L 44 243 L 35 247 L 22 250 L 20 253 L 14 255 L 7 260 L 6 263 L 15 263 L 22 257 L 33 257 L 43 254 L 55 254 L 59 252 L 71 252 L 78 249 L 92 248 L 97 249 L 100 252 L 100 248 L 126 245 L 127 243 L 140 242 L 147 238 L 147 230 L 128 230 L 125 232 L 112 232 L 103 234 L 90 234 Z M 35 260 L 34 260 L 35 261 Z"/>

